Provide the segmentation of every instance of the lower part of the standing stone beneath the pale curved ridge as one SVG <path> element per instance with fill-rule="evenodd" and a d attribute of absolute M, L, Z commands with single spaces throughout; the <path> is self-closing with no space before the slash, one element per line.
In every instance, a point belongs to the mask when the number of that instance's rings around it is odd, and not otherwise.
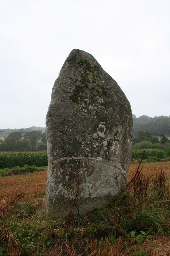
<path fill-rule="evenodd" d="M 83 213 L 102 207 L 119 193 L 126 179 L 126 172 L 117 163 L 103 159 L 66 157 L 53 161 L 48 167 L 47 214 L 61 218 L 70 209 L 78 213 L 79 208 Z"/>

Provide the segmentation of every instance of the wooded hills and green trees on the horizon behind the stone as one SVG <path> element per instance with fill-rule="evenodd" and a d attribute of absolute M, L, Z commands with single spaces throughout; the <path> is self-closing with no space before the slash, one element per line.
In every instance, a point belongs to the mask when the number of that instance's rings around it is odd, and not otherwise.
<path fill-rule="evenodd" d="M 132 116 L 134 148 L 165 150 L 170 146 L 170 140 L 166 136 L 170 135 L 170 116 L 142 115 L 138 118 L 135 115 Z M 45 127 L 2 129 L 0 132 L 0 136 L 5 137 L 4 140 L 0 139 L 0 151 L 44 151 L 47 149 Z M 9 134 L 9 132 L 12 133 Z"/>

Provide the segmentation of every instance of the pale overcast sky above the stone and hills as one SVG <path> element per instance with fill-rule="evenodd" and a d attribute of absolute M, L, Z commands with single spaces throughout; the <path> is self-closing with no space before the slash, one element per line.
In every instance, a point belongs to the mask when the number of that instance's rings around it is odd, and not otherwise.
<path fill-rule="evenodd" d="M 137 117 L 170 115 L 169 0 L 0 0 L 0 129 L 45 126 L 73 48 L 97 59 Z"/>

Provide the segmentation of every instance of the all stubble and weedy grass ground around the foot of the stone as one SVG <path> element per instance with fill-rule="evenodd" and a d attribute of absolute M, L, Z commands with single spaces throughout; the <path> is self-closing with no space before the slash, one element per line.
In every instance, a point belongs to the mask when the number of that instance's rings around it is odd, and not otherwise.
<path fill-rule="evenodd" d="M 55 221 L 45 214 L 46 171 L 0 177 L 0 255 L 154 255 L 169 230 L 169 170 L 132 164 L 111 203 Z"/>

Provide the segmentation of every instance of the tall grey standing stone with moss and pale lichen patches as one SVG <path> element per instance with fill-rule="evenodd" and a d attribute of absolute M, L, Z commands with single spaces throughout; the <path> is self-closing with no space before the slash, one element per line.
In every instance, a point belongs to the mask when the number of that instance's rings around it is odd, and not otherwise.
<path fill-rule="evenodd" d="M 101 207 L 119 192 L 132 156 L 132 122 L 116 81 L 91 54 L 73 49 L 46 117 L 48 216 Z"/>

